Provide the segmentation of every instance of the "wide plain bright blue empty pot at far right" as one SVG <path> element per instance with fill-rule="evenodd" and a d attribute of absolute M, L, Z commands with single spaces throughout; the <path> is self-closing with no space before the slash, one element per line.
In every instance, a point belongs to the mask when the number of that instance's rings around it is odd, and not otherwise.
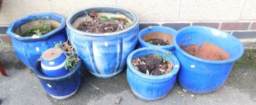
<path fill-rule="evenodd" d="M 190 55 L 179 47 L 196 43 L 200 45 L 203 41 L 222 48 L 231 59 L 206 60 Z M 180 62 L 177 81 L 182 88 L 198 94 L 219 88 L 225 82 L 234 62 L 244 51 L 241 42 L 231 34 L 205 26 L 179 29 L 174 37 L 174 44 L 175 54 Z"/>

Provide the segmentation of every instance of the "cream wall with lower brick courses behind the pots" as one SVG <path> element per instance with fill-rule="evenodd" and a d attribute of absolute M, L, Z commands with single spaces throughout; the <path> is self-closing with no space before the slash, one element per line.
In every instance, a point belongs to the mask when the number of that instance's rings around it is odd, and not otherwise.
<path fill-rule="evenodd" d="M 10 41 L 5 31 L 15 19 L 40 12 L 56 12 L 67 17 L 78 9 L 93 5 L 130 9 L 138 16 L 140 29 L 147 25 L 168 26 L 176 30 L 204 25 L 240 39 L 256 38 L 256 0 L 2 0 L 0 41 Z"/>

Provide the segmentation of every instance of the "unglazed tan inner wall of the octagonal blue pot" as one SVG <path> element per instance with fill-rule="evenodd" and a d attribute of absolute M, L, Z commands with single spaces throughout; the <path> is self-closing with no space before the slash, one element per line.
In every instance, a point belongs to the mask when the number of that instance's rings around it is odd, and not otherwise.
<path fill-rule="evenodd" d="M 50 25 L 53 26 L 55 29 L 60 26 L 60 23 L 58 21 L 49 20 L 49 22 L 50 22 Z M 24 32 L 26 32 L 30 29 L 39 28 L 39 27 L 43 27 L 43 25 L 41 25 L 39 23 L 39 20 L 34 20 L 34 21 L 25 23 L 25 24 L 21 25 L 20 27 L 18 27 L 15 30 L 15 33 L 18 35 L 22 35 Z"/>

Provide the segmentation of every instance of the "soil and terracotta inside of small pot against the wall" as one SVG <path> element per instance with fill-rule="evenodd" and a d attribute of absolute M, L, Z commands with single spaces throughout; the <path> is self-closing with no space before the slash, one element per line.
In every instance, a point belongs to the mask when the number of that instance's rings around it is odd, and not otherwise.
<path fill-rule="evenodd" d="M 151 32 L 143 35 L 142 40 L 153 45 L 169 45 L 172 44 L 173 36 L 163 32 Z"/>

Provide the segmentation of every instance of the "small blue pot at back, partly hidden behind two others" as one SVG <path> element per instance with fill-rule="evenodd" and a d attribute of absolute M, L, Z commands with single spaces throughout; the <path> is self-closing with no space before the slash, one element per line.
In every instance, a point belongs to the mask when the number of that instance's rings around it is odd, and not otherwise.
<path fill-rule="evenodd" d="M 163 33 L 167 33 L 169 35 L 171 35 L 174 38 L 175 33 L 177 32 L 175 29 L 172 29 L 170 27 L 166 27 L 166 26 L 152 26 L 152 29 L 148 29 L 147 27 L 140 30 L 138 33 L 138 41 L 137 41 L 137 48 L 141 48 L 141 47 L 157 47 L 157 48 L 162 48 L 165 50 L 169 50 L 174 54 L 174 44 L 169 44 L 169 45 L 153 45 L 150 43 L 145 42 L 142 37 L 147 34 L 147 33 L 151 33 L 151 32 L 163 32 Z"/>

